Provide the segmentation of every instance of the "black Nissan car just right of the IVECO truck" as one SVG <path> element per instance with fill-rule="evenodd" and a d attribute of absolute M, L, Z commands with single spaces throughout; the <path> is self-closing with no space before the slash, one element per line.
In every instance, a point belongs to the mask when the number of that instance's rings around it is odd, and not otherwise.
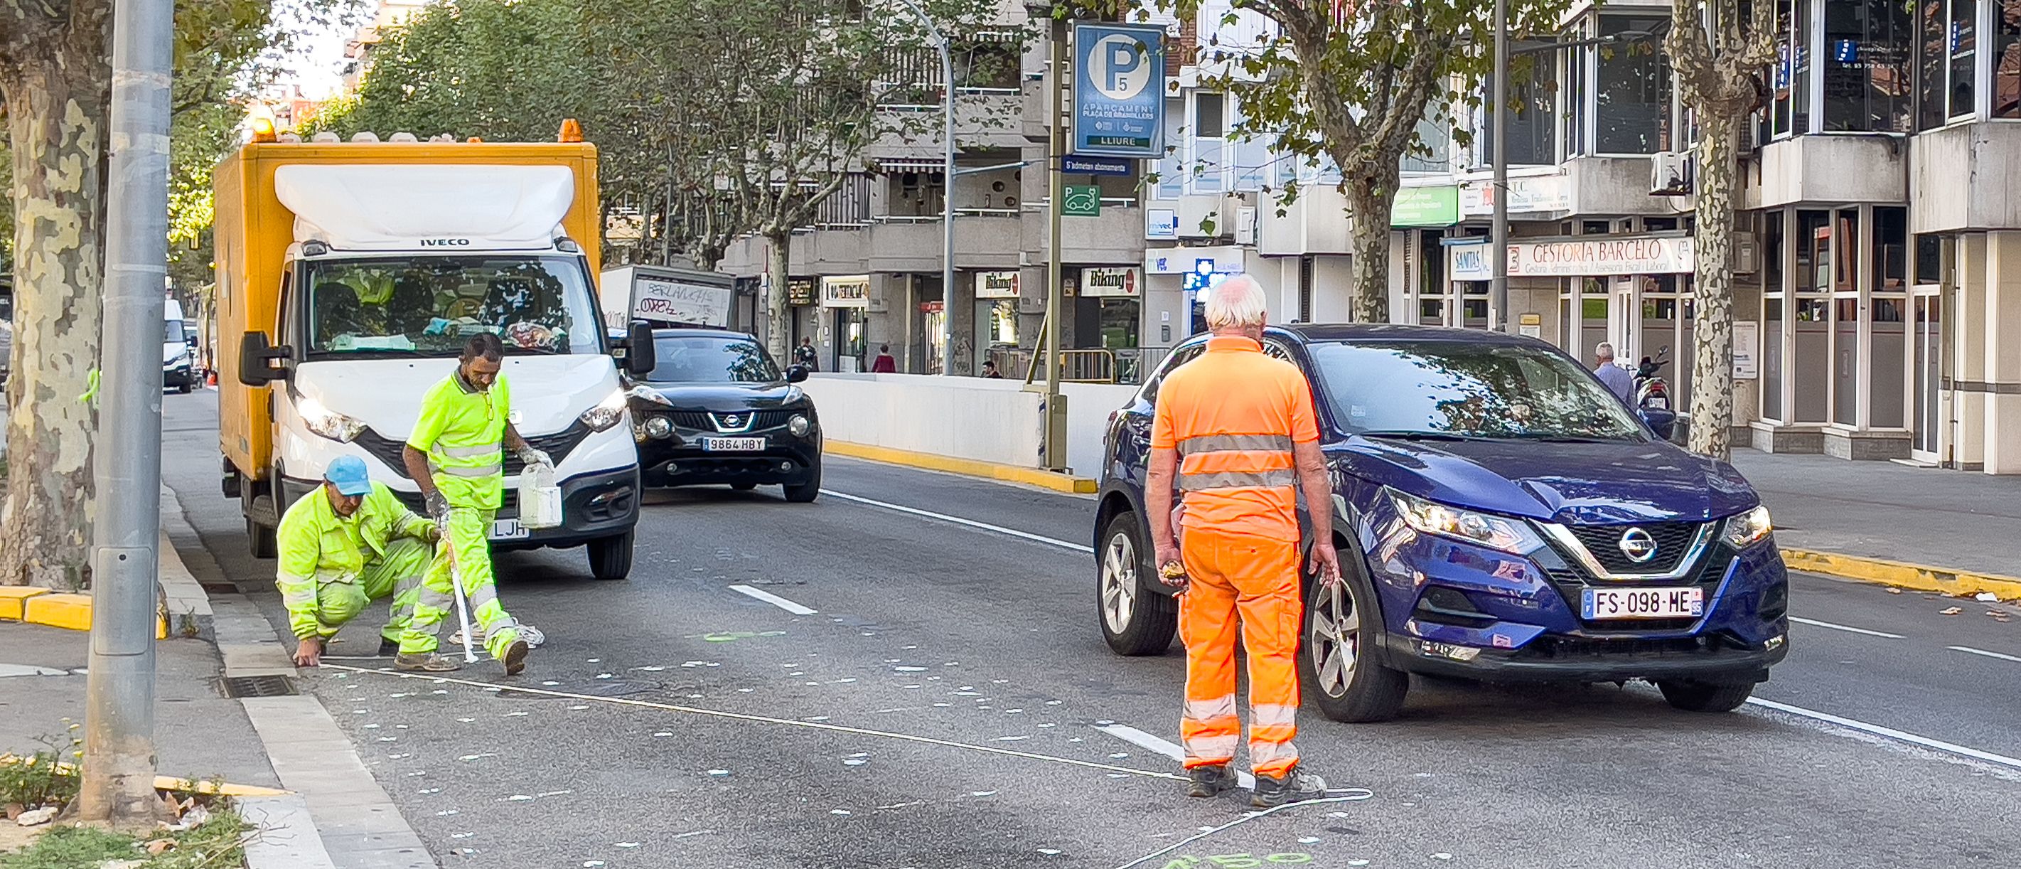
<path fill-rule="evenodd" d="M 758 340 L 726 329 L 655 329 L 653 374 L 631 392 L 645 485 L 734 489 L 784 485 L 786 499 L 821 495 L 821 418 Z"/>

